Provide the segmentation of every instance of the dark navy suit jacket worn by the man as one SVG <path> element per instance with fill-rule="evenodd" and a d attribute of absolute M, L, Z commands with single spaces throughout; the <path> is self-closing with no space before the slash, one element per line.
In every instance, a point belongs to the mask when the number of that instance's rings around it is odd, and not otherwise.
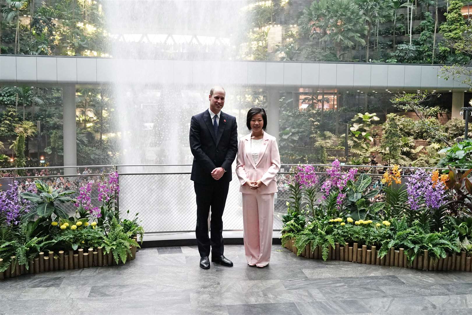
<path fill-rule="evenodd" d="M 218 134 L 215 135 L 208 110 L 192 116 L 190 150 L 194 155 L 194 162 L 190 179 L 206 185 L 231 181 L 231 164 L 236 158 L 237 144 L 236 117 L 221 111 Z M 211 177 L 211 171 L 217 167 L 226 170 L 219 180 Z"/>

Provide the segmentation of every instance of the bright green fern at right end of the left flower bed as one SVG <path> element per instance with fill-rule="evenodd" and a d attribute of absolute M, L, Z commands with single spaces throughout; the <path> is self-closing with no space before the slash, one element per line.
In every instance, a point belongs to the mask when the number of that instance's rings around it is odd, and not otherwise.
<path fill-rule="evenodd" d="M 131 232 L 124 232 L 123 227 L 118 223 L 116 217 L 111 219 L 110 232 L 103 240 L 102 246 L 105 248 L 105 253 L 113 253 L 113 258 L 118 264 L 121 260 L 126 264 L 126 258 L 131 255 L 131 246 L 140 247 L 132 237 Z"/>

